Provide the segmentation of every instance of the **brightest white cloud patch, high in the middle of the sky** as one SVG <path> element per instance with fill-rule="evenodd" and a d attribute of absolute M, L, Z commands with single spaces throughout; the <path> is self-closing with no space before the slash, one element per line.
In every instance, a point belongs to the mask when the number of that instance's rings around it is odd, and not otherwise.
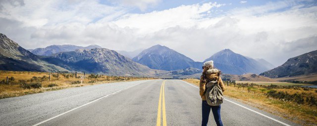
<path fill-rule="evenodd" d="M 117 21 L 112 22 L 117 26 L 138 29 L 140 34 L 157 32 L 175 26 L 190 28 L 197 25 L 211 8 L 220 7 L 222 4 L 204 3 L 182 5 L 163 11 L 153 11 L 146 14 L 127 14 Z"/>

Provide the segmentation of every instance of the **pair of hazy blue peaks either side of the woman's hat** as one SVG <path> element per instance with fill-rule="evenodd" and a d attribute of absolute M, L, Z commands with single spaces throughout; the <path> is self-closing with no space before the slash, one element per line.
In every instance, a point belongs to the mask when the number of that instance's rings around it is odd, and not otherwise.
<path fill-rule="evenodd" d="M 167 71 L 185 69 L 188 67 L 201 69 L 203 65 L 203 62 L 195 62 L 192 59 L 161 45 L 155 45 L 142 51 L 132 60 L 137 63 L 147 65 L 153 69 Z M 230 49 L 224 49 L 217 52 L 204 62 L 210 60 L 214 62 L 214 66 L 216 68 L 227 74 L 260 74 L 266 70 L 274 68 L 271 63 L 268 63 L 264 59 L 254 60 L 252 58 L 236 54 Z"/>

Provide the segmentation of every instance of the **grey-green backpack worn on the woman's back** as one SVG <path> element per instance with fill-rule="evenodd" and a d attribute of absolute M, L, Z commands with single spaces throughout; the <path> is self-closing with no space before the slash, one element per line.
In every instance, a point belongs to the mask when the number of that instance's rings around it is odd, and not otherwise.
<path fill-rule="evenodd" d="M 205 77 L 206 78 L 206 77 Z M 211 106 L 218 106 L 223 102 L 223 94 L 222 90 L 219 86 L 219 78 L 220 74 L 218 73 L 218 80 L 212 80 L 210 81 L 208 78 L 207 84 L 206 84 L 206 100 L 207 103 Z"/>

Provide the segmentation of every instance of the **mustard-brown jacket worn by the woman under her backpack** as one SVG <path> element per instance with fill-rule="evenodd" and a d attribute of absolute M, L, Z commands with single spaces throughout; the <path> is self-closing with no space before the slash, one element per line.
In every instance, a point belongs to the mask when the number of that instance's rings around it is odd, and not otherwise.
<path fill-rule="evenodd" d="M 217 70 L 216 70 L 217 71 Z M 209 80 L 213 80 L 213 79 L 218 79 L 218 73 L 216 72 L 215 73 L 215 71 L 213 70 L 207 70 L 206 72 L 205 72 L 205 75 L 206 75 L 206 77 L 209 79 Z M 200 83 L 199 83 L 199 95 L 202 97 L 202 100 L 206 100 L 206 96 L 205 96 L 205 90 L 206 90 L 206 82 L 203 82 L 203 80 L 204 80 L 204 77 L 203 77 L 203 75 L 200 77 Z M 221 90 L 222 90 L 222 92 L 224 92 L 224 90 L 226 89 L 225 87 L 224 87 L 224 84 L 223 84 L 223 82 L 222 82 L 222 80 L 221 80 L 221 77 L 219 77 L 219 86 L 220 86 L 220 88 L 221 88 Z"/>

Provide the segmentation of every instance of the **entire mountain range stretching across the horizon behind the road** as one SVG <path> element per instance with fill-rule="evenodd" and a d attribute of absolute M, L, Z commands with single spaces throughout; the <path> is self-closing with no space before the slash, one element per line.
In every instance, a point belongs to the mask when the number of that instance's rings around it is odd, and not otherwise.
<path fill-rule="evenodd" d="M 43 56 L 25 50 L 0 33 L 0 70 L 81 71 L 106 75 L 197 78 L 201 75 L 203 64 L 161 45 L 142 51 L 132 60 L 116 51 L 97 45 L 88 47 L 53 45 L 35 50 L 42 50 Z M 49 53 L 52 54 L 46 56 Z M 274 69 L 272 69 L 274 66 L 264 59 L 245 57 L 230 49 L 215 53 L 205 62 L 209 60 L 213 60 L 215 67 L 225 74 L 261 73 L 260 75 L 265 77 L 276 78 L 317 73 L 317 51 L 291 58 Z"/>

